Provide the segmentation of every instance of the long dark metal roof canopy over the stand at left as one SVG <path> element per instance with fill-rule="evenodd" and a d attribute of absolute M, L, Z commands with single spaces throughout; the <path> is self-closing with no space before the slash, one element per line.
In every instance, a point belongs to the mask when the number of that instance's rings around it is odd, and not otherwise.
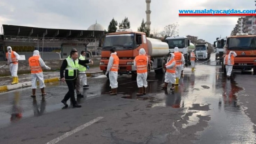
<path fill-rule="evenodd" d="M 100 38 L 104 31 L 47 29 L 27 26 L 3 25 L 4 36 L 37 37 L 38 38 Z"/>

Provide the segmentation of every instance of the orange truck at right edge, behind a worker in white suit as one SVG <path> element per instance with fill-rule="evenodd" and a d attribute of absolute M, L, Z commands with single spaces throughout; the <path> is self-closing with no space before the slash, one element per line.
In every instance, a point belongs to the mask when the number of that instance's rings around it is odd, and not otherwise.
<path fill-rule="evenodd" d="M 248 33 L 237 33 L 235 36 L 229 36 L 224 45 L 224 39 L 221 40 L 221 47 L 224 48 L 223 58 L 234 51 L 237 56 L 234 58 L 233 69 L 242 71 L 251 70 L 256 73 L 256 35 Z M 225 60 L 224 60 L 225 61 Z M 222 66 L 225 69 L 225 66 Z M 224 71 L 226 73 L 226 70 Z"/>

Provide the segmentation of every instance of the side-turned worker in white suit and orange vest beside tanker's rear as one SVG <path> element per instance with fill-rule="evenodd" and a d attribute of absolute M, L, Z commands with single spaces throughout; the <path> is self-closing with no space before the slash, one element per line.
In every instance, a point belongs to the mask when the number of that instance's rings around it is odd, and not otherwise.
<path fill-rule="evenodd" d="M 163 90 L 167 89 L 168 83 L 172 84 L 170 90 L 174 89 L 174 83 L 176 78 L 176 60 L 174 59 L 174 53 L 169 54 L 169 58 L 167 64 L 165 65 L 166 73 L 165 73 L 165 86 L 163 86 Z"/>

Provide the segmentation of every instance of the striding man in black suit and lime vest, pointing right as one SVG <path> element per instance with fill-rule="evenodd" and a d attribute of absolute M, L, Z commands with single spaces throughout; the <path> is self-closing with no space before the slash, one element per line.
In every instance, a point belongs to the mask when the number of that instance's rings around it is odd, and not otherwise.
<path fill-rule="evenodd" d="M 70 98 L 73 104 L 73 107 L 80 108 L 81 105 L 78 105 L 76 102 L 76 98 L 74 96 L 74 89 L 76 86 L 76 80 L 78 79 L 79 70 L 78 65 L 86 65 L 90 63 L 91 60 L 79 60 L 77 51 L 71 51 L 70 56 L 63 60 L 63 63 L 60 67 L 60 78 L 62 82 L 67 83 L 68 85 L 68 93 L 65 95 L 64 99 L 61 101 L 65 106 L 64 108 L 68 108 L 67 100 Z M 65 77 L 64 77 L 65 70 Z"/>

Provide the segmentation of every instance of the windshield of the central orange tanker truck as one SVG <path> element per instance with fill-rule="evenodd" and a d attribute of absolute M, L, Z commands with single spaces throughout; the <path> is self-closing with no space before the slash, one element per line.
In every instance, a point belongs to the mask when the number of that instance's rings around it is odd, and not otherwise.
<path fill-rule="evenodd" d="M 115 48 L 116 51 L 133 49 L 134 34 L 106 35 L 103 43 L 103 51 Z"/>

